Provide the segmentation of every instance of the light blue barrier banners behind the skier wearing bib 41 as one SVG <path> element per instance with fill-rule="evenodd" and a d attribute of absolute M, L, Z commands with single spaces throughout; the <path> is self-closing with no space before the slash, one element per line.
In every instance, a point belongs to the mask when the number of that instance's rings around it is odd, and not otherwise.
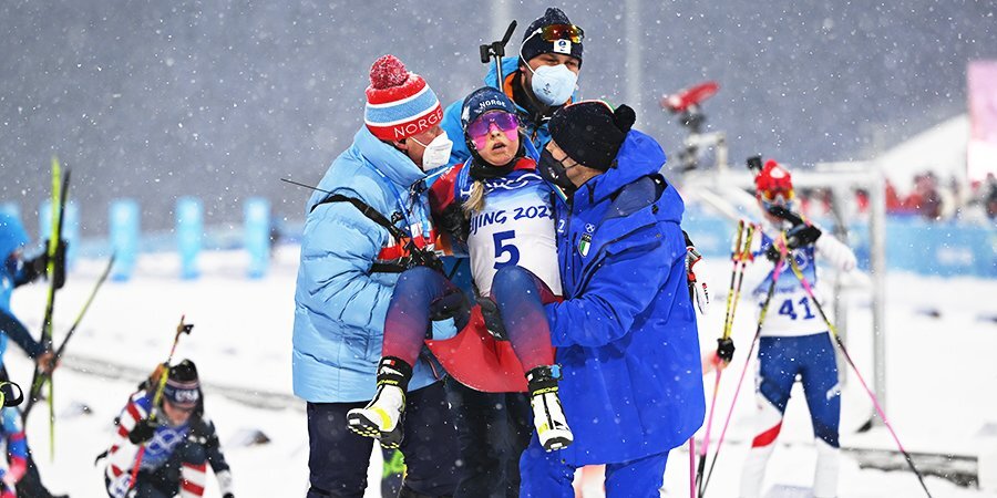
<path fill-rule="evenodd" d="M 736 222 L 687 207 L 682 228 L 697 249 L 706 256 L 729 258 Z M 830 221 L 818 224 L 832 228 Z M 867 226 L 866 221 L 856 221 L 849 227 L 849 245 L 863 270 L 870 268 Z M 886 269 L 938 277 L 997 278 L 997 227 L 887 217 Z"/>

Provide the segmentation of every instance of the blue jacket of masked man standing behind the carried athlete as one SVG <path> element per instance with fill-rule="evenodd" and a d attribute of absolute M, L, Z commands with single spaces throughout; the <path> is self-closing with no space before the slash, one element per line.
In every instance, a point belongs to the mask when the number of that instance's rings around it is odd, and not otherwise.
<path fill-rule="evenodd" d="M 516 106 L 516 115 L 520 116 L 520 124 L 526 133 L 526 136 L 530 138 L 526 155 L 536 159 L 539 157 L 537 152 L 543 151 L 544 147 L 547 146 L 547 142 L 551 142 L 551 132 L 547 129 L 548 121 L 545 120 L 541 123 L 534 122 L 530 112 L 513 98 L 512 79 L 518 69 L 518 56 L 503 58 L 502 79 L 504 81 L 502 85 L 498 85 L 498 75 L 495 73 L 494 63 L 489 64 L 489 72 L 485 74 L 484 84 L 503 91 L 508 96 L 508 100 L 513 102 L 513 105 Z M 572 95 L 572 100 L 575 101 L 577 97 L 578 92 L 576 91 L 575 94 Z M 460 100 L 448 105 L 446 110 L 443 112 L 443 122 L 440 123 L 440 126 L 446 132 L 446 136 L 453 141 L 453 149 L 450 152 L 450 166 L 461 164 L 471 157 L 471 151 L 467 149 L 467 143 L 464 142 L 464 128 L 461 125 L 461 107 L 463 104 L 464 101 Z M 531 145 L 533 147 L 532 151 L 530 149 Z"/>

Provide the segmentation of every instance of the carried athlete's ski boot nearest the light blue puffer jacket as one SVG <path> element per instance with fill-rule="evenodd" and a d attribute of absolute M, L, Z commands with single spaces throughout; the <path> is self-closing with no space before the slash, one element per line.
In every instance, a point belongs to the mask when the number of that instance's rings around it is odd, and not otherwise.
<path fill-rule="evenodd" d="M 347 412 L 350 430 L 373 437 L 388 449 L 398 448 L 402 440 L 402 414 L 412 367 L 394 356 L 381 359 L 378 365 L 378 393 L 362 408 Z"/>

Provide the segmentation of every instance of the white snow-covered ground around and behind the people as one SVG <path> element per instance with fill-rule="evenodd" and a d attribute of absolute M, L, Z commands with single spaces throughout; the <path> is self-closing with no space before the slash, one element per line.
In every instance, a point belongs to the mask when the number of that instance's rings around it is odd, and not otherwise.
<path fill-rule="evenodd" d="M 127 283 L 109 282 L 101 291 L 78 335 L 66 365 L 99 360 L 140 371 L 165 360 L 181 314 L 196 324 L 184 338 L 177 356 L 198 364 L 206 383 L 258 393 L 260 406 L 248 406 L 208 391 L 207 409 L 218 425 L 226 455 L 233 466 L 239 497 L 304 496 L 307 488 L 307 430 L 304 403 L 290 394 L 290 329 L 297 248 L 282 248 L 270 276 L 263 280 L 244 277 L 246 260 L 237 252 L 208 253 L 204 274 L 196 281 L 181 281 L 178 261 L 169 255 L 148 256 Z M 59 293 L 56 340 L 72 322 L 102 262 L 81 261 L 70 283 Z M 713 293 L 715 303 L 701 321 L 702 344 L 712 347 L 723 315 L 729 262 L 707 261 L 700 270 Z M 980 315 L 997 313 L 994 305 L 997 281 L 931 279 L 891 274 L 887 280 L 886 412 L 902 442 L 911 452 L 952 453 L 975 456 L 997 447 L 995 430 L 984 437 L 986 424 L 997 424 L 997 323 Z M 868 298 L 853 293 L 850 303 L 849 344 L 863 374 L 872 381 Z M 44 308 L 43 286 L 34 284 L 14 293 L 13 310 L 31 330 L 39 330 Z M 927 313 L 936 310 L 938 317 Z M 718 402 L 713 438 L 727 413 L 743 366 L 748 342 L 754 331 L 752 308 L 742 302 L 734 329 L 738 356 L 726 372 Z M 30 363 L 17 346 L 7 354 L 14 380 L 28 382 Z M 74 361 L 76 363 L 74 363 Z M 747 383 L 751 382 L 750 372 Z M 893 448 L 882 428 L 857 434 L 855 429 L 872 413 L 865 394 L 849 374 L 844 392 L 842 444 L 845 447 Z M 708 396 L 712 378 L 707 378 Z M 56 375 L 56 448 L 48 452 L 44 406 L 39 406 L 29 424 L 42 476 L 50 488 L 73 497 L 103 497 L 100 470 L 92 465 L 110 439 L 111 421 L 124 404 L 134 384 L 107 380 L 63 369 Z M 710 484 L 710 495 L 737 495 L 740 463 L 751 436 L 753 400 L 747 385 L 738 402 L 728 443 Z M 282 394 L 274 397 L 269 393 Z M 274 402 L 285 403 L 274 409 Z M 285 402 L 286 401 L 286 402 Z M 266 403 L 265 403 L 266 402 Z M 85 403 L 92 414 L 78 414 Z M 814 463 L 805 405 L 791 403 L 780 447 L 772 457 L 767 486 L 808 486 Z M 271 443 L 245 446 L 248 430 L 263 430 Z M 377 454 L 377 452 L 376 452 Z M 666 496 L 688 495 L 688 454 L 675 452 L 666 473 Z M 379 465 L 379 464 L 378 464 Z M 379 475 L 377 465 L 371 475 Z M 959 488 L 929 477 L 935 497 L 997 496 L 978 489 Z M 919 485 L 909 473 L 859 469 L 845 455 L 841 475 L 841 497 L 916 497 Z M 207 496 L 217 496 L 209 485 Z M 367 496 L 378 492 L 369 490 Z"/>

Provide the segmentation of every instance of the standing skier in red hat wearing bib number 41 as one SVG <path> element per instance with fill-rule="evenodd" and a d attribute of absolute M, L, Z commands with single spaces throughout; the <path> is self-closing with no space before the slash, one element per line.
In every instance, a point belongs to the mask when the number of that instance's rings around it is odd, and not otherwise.
<path fill-rule="evenodd" d="M 764 212 L 763 228 L 773 235 L 785 231 L 787 248 L 812 286 L 816 284 L 816 255 L 843 271 L 855 267 L 855 255 L 847 246 L 793 212 L 795 194 L 789 170 L 774 160 L 769 160 L 756 176 L 754 185 L 758 201 Z M 777 261 L 780 251 L 772 242 L 771 237 L 762 235 L 752 252 Z M 759 429 L 744 461 L 741 498 L 760 496 L 765 465 L 782 428 L 782 417 L 796 377 L 803 384 L 816 439 L 814 497 L 837 496 L 841 391 L 834 345 L 816 304 L 811 302 L 788 261 L 785 264 L 769 302 L 759 340 L 756 396 Z M 765 300 L 772 273 L 770 271 L 753 291 L 760 305 Z"/>

